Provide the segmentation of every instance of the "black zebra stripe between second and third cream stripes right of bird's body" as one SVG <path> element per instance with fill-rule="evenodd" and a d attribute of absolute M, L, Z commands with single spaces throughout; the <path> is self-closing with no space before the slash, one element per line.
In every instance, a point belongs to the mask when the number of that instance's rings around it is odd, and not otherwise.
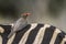
<path fill-rule="evenodd" d="M 52 38 L 52 35 L 53 35 L 54 31 L 55 31 L 54 26 L 46 28 L 46 30 L 44 32 L 45 35 L 43 37 L 42 44 L 50 44 L 50 41 Z"/>

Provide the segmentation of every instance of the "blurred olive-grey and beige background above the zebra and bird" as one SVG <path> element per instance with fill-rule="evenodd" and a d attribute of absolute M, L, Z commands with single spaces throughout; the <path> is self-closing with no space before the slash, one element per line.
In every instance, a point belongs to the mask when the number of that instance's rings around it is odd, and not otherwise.
<path fill-rule="evenodd" d="M 0 24 L 10 24 L 23 12 L 29 23 L 47 23 L 66 32 L 66 0 L 0 0 Z"/>

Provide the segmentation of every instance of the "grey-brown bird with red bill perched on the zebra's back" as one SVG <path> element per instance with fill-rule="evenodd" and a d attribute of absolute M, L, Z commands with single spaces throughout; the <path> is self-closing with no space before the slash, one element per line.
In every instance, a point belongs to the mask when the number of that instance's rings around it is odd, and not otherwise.
<path fill-rule="evenodd" d="M 21 18 L 12 24 L 11 32 L 8 35 L 8 38 L 10 38 L 15 32 L 22 30 L 23 28 L 25 28 L 28 25 L 26 19 L 30 14 L 31 13 L 29 13 L 29 12 L 21 14 Z"/>

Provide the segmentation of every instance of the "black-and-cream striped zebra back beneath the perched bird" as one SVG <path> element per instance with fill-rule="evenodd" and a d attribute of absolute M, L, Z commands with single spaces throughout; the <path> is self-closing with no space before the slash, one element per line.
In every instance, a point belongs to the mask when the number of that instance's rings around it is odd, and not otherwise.
<path fill-rule="evenodd" d="M 66 33 L 50 24 L 28 24 L 8 38 L 11 26 L 0 24 L 0 44 L 66 44 Z"/>

